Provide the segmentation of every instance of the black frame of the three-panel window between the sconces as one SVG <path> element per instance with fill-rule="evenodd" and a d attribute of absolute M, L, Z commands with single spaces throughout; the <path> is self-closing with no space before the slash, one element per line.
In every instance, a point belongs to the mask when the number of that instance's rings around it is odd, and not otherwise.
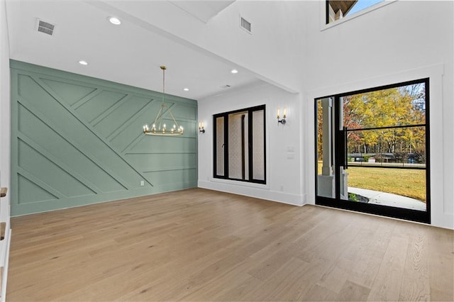
<path fill-rule="evenodd" d="M 228 171 L 228 116 L 239 112 L 248 112 L 248 179 L 231 178 Z M 253 112 L 263 111 L 263 179 L 253 178 Z M 223 138 L 224 138 L 224 149 L 223 149 L 223 175 L 217 174 L 217 123 L 216 118 L 223 118 Z M 213 115 L 213 178 L 214 179 L 228 179 L 233 181 L 242 181 L 255 184 L 267 184 L 267 152 L 266 152 L 266 106 L 265 104 L 259 106 L 253 106 L 249 108 L 242 108 L 234 111 L 228 111 L 223 113 L 217 113 Z"/>

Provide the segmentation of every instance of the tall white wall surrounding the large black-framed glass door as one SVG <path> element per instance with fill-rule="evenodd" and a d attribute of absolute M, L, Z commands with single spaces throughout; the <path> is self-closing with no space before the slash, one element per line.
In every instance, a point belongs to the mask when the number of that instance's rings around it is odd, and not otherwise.
<path fill-rule="evenodd" d="M 322 26 L 323 6 L 308 1 L 304 120 L 314 133 L 314 99 L 430 77 L 431 222 L 454 228 L 453 1 L 395 1 Z M 307 135 L 304 149 L 314 150 Z M 303 164 L 313 203 L 314 153 Z"/>

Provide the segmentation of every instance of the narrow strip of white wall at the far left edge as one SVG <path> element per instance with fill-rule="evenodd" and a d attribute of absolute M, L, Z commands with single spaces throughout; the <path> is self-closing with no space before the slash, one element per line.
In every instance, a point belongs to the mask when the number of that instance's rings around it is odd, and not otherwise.
<path fill-rule="evenodd" d="M 6 2 L 0 1 L 0 180 L 9 187 L 10 181 L 10 75 L 9 37 L 6 23 Z M 9 204 L 9 194 L 6 201 Z M 3 213 L 2 213 L 3 215 Z"/>

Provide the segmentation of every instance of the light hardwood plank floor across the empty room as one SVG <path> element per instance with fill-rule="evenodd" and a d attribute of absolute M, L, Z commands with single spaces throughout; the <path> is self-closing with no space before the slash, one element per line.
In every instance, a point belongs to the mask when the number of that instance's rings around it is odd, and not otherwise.
<path fill-rule="evenodd" d="M 8 301 L 453 301 L 454 231 L 204 189 L 13 218 Z"/>

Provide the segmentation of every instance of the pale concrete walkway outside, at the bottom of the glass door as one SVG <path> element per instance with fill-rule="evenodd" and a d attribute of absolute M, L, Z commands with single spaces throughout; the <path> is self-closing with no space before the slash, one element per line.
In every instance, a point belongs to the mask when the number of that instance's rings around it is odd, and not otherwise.
<path fill-rule="evenodd" d="M 367 189 L 348 187 L 348 193 L 358 194 L 369 198 L 369 203 L 382 206 L 394 206 L 396 208 L 410 208 L 417 211 L 426 211 L 426 203 L 418 199 L 400 196 L 397 194 L 372 191 Z"/>

